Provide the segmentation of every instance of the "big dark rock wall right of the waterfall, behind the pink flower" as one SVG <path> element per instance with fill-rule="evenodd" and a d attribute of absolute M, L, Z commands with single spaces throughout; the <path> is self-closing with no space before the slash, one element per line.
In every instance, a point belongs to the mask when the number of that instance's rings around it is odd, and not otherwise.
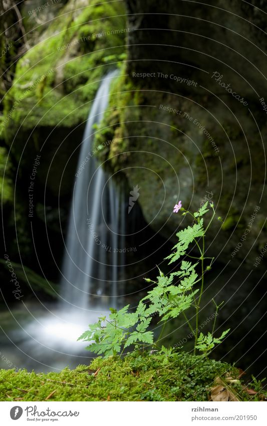
<path fill-rule="evenodd" d="M 206 3 L 126 0 L 126 85 L 139 97 L 121 114 L 122 163 L 147 222 L 167 238 L 177 200 L 197 209 L 212 194 L 224 223 L 210 252 L 251 268 L 265 244 L 267 2 Z"/>

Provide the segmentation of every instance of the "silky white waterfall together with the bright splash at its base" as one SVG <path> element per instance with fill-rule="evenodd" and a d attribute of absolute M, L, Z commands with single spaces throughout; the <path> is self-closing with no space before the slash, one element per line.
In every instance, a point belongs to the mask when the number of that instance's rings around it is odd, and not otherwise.
<path fill-rule="evenodd" d="M 116 307 L 118 285 L 123 294 L 125 262 L 121 256 L 127 205 L 123 191 L 97 165 L 93 151 L 94 124 L 103 118 L 115 75 L 111 72 L 103 79 L 84 132 L 63 261 L 61 302 L 40 310 L 36 317 L 31 312 L 34 319 L 23 333 L 14 336 L 14 341 L 23 339 L 18 349 L 25 354 L 22 366 L 34 365 L 36 371 L 87 363 L 88 352 L 77 338 L 101 313 Z"/>

